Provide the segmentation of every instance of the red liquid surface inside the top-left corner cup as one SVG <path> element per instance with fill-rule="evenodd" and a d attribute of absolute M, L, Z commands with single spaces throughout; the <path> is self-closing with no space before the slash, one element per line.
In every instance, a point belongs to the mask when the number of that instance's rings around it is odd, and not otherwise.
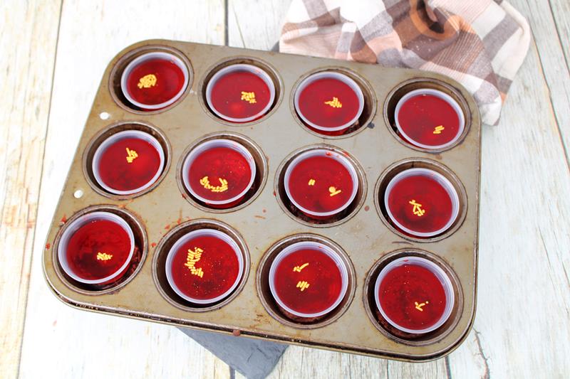
<path fill-rule="evenodd" d="M 146 75 L 155 75 L 155 85 L 140 82 Z M 184 86 L 184 72 L 172 60 L 152 58 L 139 63 L 129 73 L 127 90 L 133 99 L 145 105 L 158 105 L 175 97 Z"/>

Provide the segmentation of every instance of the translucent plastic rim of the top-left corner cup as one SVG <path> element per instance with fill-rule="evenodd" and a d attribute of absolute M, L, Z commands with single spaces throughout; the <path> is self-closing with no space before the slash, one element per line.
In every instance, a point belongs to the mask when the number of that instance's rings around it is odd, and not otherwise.
<path fill-rule="evenodd" d="M 182 73 L 184 74 L 184 84 L 182 85 L 180 91 L 178 91 L 177 94 L 174 95 L 170 100 L 161 102 L 160 104 L 145 104 L 133 99 L 133 97 L 130 95 L 127 89 L 127 80 L 128 76 L 137 65 L 153 58 L 172 60 L 173 63 L 175 63 L 175 65 L 177 65 L 178 68 L 182 70 Z M 161 110 L 162 108 L 174 104 L 178 99 L 180 99 L 180 97 L 182 97 L 182 94 L 186 91 L 189 82 L 190 82 L 190 72 L 182 59 L 178 58 L 176 55 L 172 53 L 166 53 L 165 51 L 151 51 L 150 53 L 144 53 L 142 55 L 139 55 L 137 58 L 131 60 L 130 63 L 127 65 L 127 67 L 125 67 L 125 70 L 123 70 L 123 73 L 120 76 L 120 89 L 121 92 L 123 92 L 123 95 L 126 97 L 126 99 L 136 107 L 142 108 L 143 110 Z"/>

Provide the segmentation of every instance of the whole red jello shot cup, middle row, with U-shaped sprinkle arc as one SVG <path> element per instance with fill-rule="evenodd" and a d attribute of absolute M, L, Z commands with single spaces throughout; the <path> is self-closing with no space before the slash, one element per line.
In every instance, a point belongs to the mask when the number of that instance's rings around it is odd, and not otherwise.
<path fill-rule="evenodd" d="M 196 146 L 182 166 L 190 194 L 212 208 L 231 208 L 243 200 L 255 179 L 249 150 L 230 139 L 210 139 Z"/>

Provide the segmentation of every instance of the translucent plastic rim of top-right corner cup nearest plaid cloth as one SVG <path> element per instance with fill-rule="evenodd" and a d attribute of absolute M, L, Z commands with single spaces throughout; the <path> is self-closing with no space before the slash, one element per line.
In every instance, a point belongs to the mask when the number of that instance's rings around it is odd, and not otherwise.
<path fill-rule="evenodd" d="M 457 117 L 459 117 L 459 129 L 457 130 L 457 134 L 455 135 L 455 137 L 453 137 L 453 139 L 451 139 L 449 142 L 439 145 L 421 144 L 420 142 L 411 138 L 410 136 L 408 136 L 408 134 L 404 132 L 403 128 L 400 125 L 400 122 L 398 121 L 398 115 L 400 114 L 400 109 L 403 107 L 406 101 L 408 101 L 411 97 L 417 95 L 433 95 L 435 97 L 439 97 L 440 99 L 445 100 L 447 104 L 451 105 L 453 110 L 455 110 Z M 410 141 L 413 145 L 421 147 L 423 149 L 436 150 L 436 149 L 445 149 L 449 146 L 452 146 L 453 144 L 455 144 L 455 142 L 457 142 L 458 139 L 460 139 L 460 137 L 463 134 L 463 131 L 465 130 L 465 114 L 463 113 L 463 110 L 460 107 L 459 103 L 455 101 L 453 97 L 447 95 L 447 93 L 442 92 L 440 90 L 434 90 L 433 88 L 418 88 L 418 90 L 413 90 L 403 95 L 403 97 L 401 97 L 400 100 L 398 100 L 398 103 L 396 103 L 396 107 L 394 110 L 394 119 L 398 132 L 400 132 L 400 134 L 402 134 L 402 136 L 408 141 Z"/>

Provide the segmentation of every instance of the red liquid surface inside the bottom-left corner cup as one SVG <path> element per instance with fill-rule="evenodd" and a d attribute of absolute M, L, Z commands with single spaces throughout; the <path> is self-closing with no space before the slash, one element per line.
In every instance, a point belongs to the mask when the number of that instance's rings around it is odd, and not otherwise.
<path fill-rule="evenodd" d="M 98 259 L 98 253 L 110 255 Z M 117 272 L 128 259 L 130 239 L 118 223 L 95 220 L 76 230 L 66 247 L 71 272 L 86 280 L 98 280 Z M 107 259 L 109 258 L 109 259 Z"/>

